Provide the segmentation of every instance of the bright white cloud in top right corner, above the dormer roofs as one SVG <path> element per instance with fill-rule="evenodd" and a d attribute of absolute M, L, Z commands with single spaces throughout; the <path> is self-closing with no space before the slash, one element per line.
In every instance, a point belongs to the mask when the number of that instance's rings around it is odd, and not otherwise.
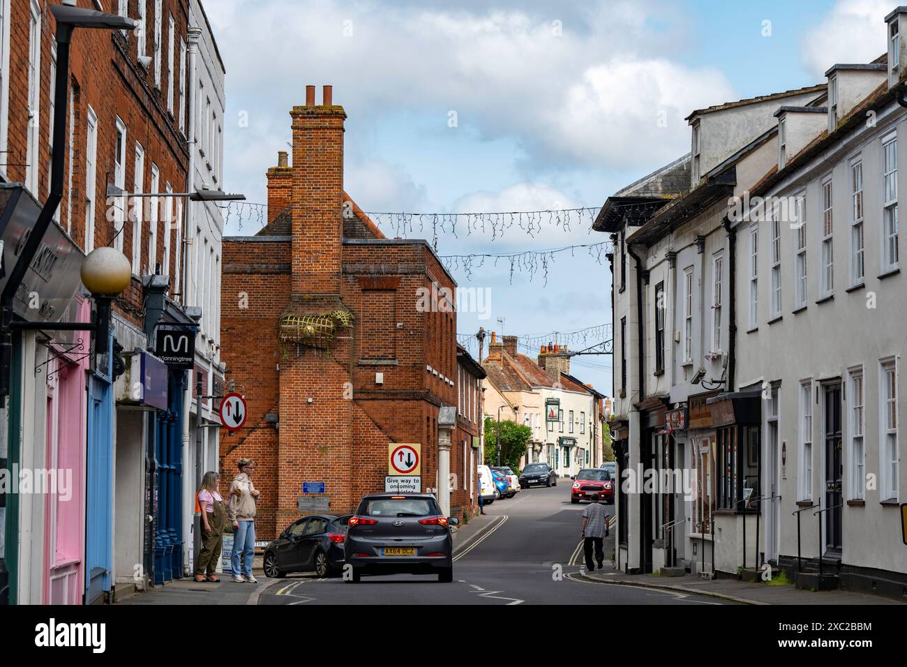
<path fill-rule="evenodd" d="M 883 19 L 894 5 L 890 0 L 839 0 L 801 44 L 810 74 L 821 78 L 833 64 L 870 63 L 885 53 Z"/>

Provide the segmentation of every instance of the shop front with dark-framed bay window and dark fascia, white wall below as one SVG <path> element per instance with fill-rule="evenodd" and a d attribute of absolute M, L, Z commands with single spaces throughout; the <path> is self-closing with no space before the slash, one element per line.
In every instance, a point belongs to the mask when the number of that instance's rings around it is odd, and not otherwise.
<path fill-rule="evenodd" d="M 715 569 L 736 574 L 759 560 L 759 513 L 773 499 L 763 497 L 761 462 L 761 391 L 739 391 L 707 399 L 715 429 Z"/>

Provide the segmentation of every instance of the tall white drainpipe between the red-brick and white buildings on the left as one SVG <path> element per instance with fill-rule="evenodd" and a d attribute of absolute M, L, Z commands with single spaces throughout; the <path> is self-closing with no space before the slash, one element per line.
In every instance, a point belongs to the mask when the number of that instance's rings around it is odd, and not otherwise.
<path fill-rule="evenodd" d="M 198 103 L 198 95 L 195 89 L 195 78 L 196 78 L 196 54 L 199 53 L 199 40 L 201 38 L 201 28 L 198 25 L 190 25 L 187 31 L 187 40 L 188 44 L 186 45 L 186 54 L 188 55 L 188 71 L 186 76 L 189 80 L 189 137 L 187 144 L 189 145 L 189 168 L 186 173 L 186 191 L 194 192 L 195 191 L 195 115 L 196 115 L 196 104 Z M 184 307 L 190 305 L 190 280 L 189 280 L 189 250 L 194 248 L 189 242 L 191 237 L 191 232 L 195 229 L 195 216 L 192 214 L 195 210 L 195 202 L 191 201 L 188 197 L 185 198 L 185 203 L 183 205 L 183 211 L 185 212 L 185 224 L 182 228 L 183 238 L 180 239 L 182 243 L 182 285 L 177 285 L 177 289 L 180 290 L 180 296 L 182 299 L 182 304 Z M 202 204 L 204 205 L 204 204 Z M 198 337 L 198 334 L 196 334 Z M 190 424 L 190 411 L 192 407 L 192 387 L 193 387 L 193 376 L 195 372 L 192 370 L 186 371 L 187 378 L 184 384 L 185 391 L 183 392 L 182 399 L 182 465 L 183 470 L 189 469 L 189 443 L 190 443 L 190 433 L 189 433 L 189 424 Z M 201 391 L 197 392 L 201 396 Z M 197 413 L 196 416 L 196 446 L 195 446 L 195 478 L 187 475 L 185 478 L 186 485 L 186 497 L 193 498 L 195 497 L 195 489 L 201 486 L 201 447 L 200 439 L 201 431 L 199 425 L 201 423 L 201 398 L 196 400 L 195 410 Z M 195 486 L 192 486 L 194 483 Z M 193 541 L 193 559 L 199 557 L 201 549 L 201 515 L 195 512 L 195 503 L 193 502 L 189 505 L 192 509 L 192 541 Z M 189 548 L 189 540 L 185 542 L 186 548 Z M 185 559 L 186 563 L 186 574 L 187 576 L 192 574 L 189 571 L 189 558 Z"/>

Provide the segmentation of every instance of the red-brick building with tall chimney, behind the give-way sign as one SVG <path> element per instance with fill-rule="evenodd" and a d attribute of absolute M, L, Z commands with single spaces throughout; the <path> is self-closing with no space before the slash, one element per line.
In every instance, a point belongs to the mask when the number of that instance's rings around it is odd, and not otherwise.
<path fill-rule="evenodd" d="M 434 492 L 438 410 L 458 405 L 453 278 L 426 241 L 386 239 L 346 195 L 346 113 L 330 86 L 321 104 L 307 86 L 290 117 L 293 161 L 280 153 L 268 170 L 268 225 L 223 244 L 221 358 L 249 409 L 223 434 L 222 474 L 256 460 L 263 536 L 304 514 L 304 482 L 325 483 L 332 513 L 383 491 L 390 443 L 422 446 Z"/>

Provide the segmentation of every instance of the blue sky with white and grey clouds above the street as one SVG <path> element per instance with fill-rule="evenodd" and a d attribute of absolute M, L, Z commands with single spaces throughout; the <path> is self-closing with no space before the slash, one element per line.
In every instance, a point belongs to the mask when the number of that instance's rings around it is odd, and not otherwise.
<path fill-rule="evenodd" d="M 225 189 L 267 201 L 265 171 L 288 150 L 290 107 L 304 102 L 306 84 L 317 85 L 318 102 L 332 84 L 348 116 L 345 188 L 365 211 L 597 209 L 688 152 L 683 119 L 694 109 L 824 83 L 832 64 L 882 54 L 883 17 L 895 5 L 210 0 L 227 68 Z M 246 114 L 248 125 L 239 122 Z M 240 231 L 232 216 L 227 234 L 255 233 L 253 217 Z M 462 225 L 454 238 L 448 226 L 438 252 L 607 240 L 589 226 L 588 217 L 569 230 L 543 219 L 532 237 L 514 224 L 494 239 L 490 228 L 466 235 Z M 407 235 L 429 238 L 430 227 Z M 561 253 L 547 284 L 538 272 L 511 275 L 506 260 L 486 260 L 472 280 L 454 269 L 461 287 L 490 295 L 487 311 L 459 313 L 458 330 L 541 335 L 610 323 L 610 271 L 600 262 Z M 607 394 L 610 367 L 607 356 L 571 362 L 573 375 Z"/>

